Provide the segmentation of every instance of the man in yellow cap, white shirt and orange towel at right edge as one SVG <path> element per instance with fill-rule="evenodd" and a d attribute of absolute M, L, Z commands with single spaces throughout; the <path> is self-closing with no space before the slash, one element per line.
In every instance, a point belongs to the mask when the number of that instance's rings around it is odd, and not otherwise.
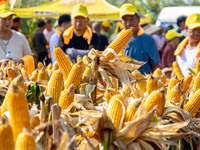
<path fill-rule="evenodd" d="M 187 17 L 185 30 L 188 36 L 178 45 L 174 52 L 176 61 L 186 76 L 193 68 L 194 62 L 200 57 L 200 14 L 193 13 Z"/>

